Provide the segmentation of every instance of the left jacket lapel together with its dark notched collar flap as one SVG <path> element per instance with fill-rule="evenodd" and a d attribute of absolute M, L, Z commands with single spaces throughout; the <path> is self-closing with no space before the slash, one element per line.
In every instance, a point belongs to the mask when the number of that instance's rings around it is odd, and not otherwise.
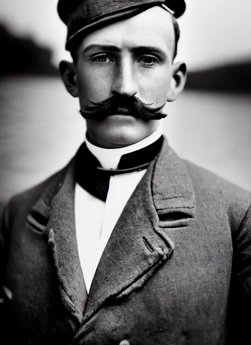
<path fill-rule="evenodd" d="M 76 329 L 83 318 L 87 291 L 77 251 L 74 194 L 75 159 L 53 176 L 27 220 L 41 230 L 44 227 L 44 232 L 49 235 L 61 300 L 71 315 L 72 327 Z M 47 225 L 41 224 L 43 219 L 49 219 Z"/>

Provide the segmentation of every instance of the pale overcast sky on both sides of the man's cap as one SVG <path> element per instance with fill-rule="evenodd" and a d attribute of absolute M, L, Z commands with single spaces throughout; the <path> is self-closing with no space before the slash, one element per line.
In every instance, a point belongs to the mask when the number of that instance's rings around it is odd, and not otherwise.
<path fill-rule="evenodd" d="M 251 0 L 186 0 L 179 19 L 178 57 L 190 70 L 233 60 L 251 60 Z M 68 57 L 66 28 L 57 0 L 0 0 L 0 21 L 18 35 L 28 35 L 53 50 L 55 64 Z"/>

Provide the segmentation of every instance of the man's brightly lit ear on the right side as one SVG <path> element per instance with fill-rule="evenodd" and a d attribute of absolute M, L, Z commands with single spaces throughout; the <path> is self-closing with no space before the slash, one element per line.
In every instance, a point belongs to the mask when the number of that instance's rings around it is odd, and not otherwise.
<path fill-rule="evenodd" d="M 168 90 L 168 102 L 173 102 L 174 100 L 176 100 L 178 95 L 183 91 L 187 77 L 187 69 L 184 62 L 176 62 L 175 64 L 173 64 L 172 68 L 173 76 L 170 88 Z"/>

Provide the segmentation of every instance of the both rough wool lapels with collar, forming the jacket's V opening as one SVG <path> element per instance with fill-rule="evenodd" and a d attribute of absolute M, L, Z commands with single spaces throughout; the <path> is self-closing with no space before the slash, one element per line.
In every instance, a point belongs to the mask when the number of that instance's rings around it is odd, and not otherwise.
<path fill-rule="evenodd" d="M 139 289 L 171 257 L 175 244 L 166 229 L 186 226 L 195 217 L 195 197 L 182 160 L 165 141 L 111 234 L 87 300 L 75 236 L 74 167 L 73 159 L 54 176 L 33 210 L 50 218 L 49 245 L 62 301 L 75 321 L 85 324 L 107 299 Z"/>

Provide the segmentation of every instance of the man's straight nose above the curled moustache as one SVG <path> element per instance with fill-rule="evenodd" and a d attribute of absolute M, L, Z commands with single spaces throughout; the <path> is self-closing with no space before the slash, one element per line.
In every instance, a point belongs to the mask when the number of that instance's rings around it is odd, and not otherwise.
<path fill-rule="evenodd" d="M 121 97 L 131 97 L 138 92 L 138 86 L 135 79 L 133 63 L 129 58 L 124 59 L 118 64 L 114 75 L 112 94 Z"/>

